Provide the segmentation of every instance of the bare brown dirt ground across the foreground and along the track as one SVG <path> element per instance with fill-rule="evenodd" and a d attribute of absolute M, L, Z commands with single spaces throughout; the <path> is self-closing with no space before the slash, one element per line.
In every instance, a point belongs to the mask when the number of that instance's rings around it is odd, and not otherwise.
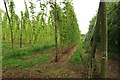
<path fill-rule="evenodd" d="M 87 65 L 80 64 L 68 64 L 68 59 L 76 51 L 77 44 L 66 47 L 59 51 L 58 62 L 54 61 L 55 50 L 50 50 L 53 55 L 48 63 L 44 65 L 35 65 L 30 70 L 24 70 L 20 68 L 11 69 L 9 67 L 3 68 L 3 78 L 86 78 L 87 77 Z M 83 51 L 84 52 L 84 51 Z M 47 51 L 42 52 L 46 54 Z M 96 54 L 100 54 L 99 51 L 96 51 Z M 41 55 L 41 54 L 40 54 Z M 38 54 L 24 58 L 23 60 L 29 60 L 39 56 Z M 98 57 L 98 56 L 96 56 Z M 108 78 L 118 78 L 118 62 L 109 59 L 108 60 L 109 71 Z"/>

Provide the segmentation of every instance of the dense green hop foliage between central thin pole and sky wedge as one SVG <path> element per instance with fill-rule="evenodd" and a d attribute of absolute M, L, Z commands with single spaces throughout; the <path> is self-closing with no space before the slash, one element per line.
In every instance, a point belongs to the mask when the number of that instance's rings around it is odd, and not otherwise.
<path fill-rule="evenodd" d="M 74 12 L 72 1 L 63 1 L 63 16 L 62 16 L 62 26 L 61 26 L 61 44 L 64 46 L 71 45 L 73 43 L 79 42 L 80 30 L 77 23 L 77 18 Z"/>

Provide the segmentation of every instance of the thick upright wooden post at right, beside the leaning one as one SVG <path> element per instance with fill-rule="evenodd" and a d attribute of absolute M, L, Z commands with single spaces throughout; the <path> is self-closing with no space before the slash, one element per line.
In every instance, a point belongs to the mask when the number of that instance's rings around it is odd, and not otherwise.
<path fill-rule="evenodd" d="M 101 3 L 101 52 L 102 52 L 102 60 L 101 60 L 101 78 L 107 78 L 107 68 L 108 68 L 108 61 L 107 61 L 107 53 L 108 53 L 108 42 L 107 42 L 107 21 L 106 21 L 106 5 L 105 2 Z"/>

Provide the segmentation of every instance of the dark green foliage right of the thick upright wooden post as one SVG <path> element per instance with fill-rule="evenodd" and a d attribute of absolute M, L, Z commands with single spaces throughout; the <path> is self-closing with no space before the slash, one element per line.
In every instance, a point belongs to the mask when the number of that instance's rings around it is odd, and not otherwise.
<path fill-rule="evenodd" d="M 107 22 L 108 22 L 108 52 L 109 58 L 119 60 L 119 41 L 120 37 L 120 27 L 119 27 L 119 17 L 120 17 L 120 2 L 107 3 Z"/>

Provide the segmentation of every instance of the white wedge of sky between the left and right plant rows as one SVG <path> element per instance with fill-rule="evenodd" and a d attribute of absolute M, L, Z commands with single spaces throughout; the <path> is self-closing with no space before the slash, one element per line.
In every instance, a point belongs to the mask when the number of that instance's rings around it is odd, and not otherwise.
<path fill-rule="evenodd" d="M 82 34 L 87 33 L 89 21 L 96 15 L 100 0 L 73 0 L 79 28 Z"/>

